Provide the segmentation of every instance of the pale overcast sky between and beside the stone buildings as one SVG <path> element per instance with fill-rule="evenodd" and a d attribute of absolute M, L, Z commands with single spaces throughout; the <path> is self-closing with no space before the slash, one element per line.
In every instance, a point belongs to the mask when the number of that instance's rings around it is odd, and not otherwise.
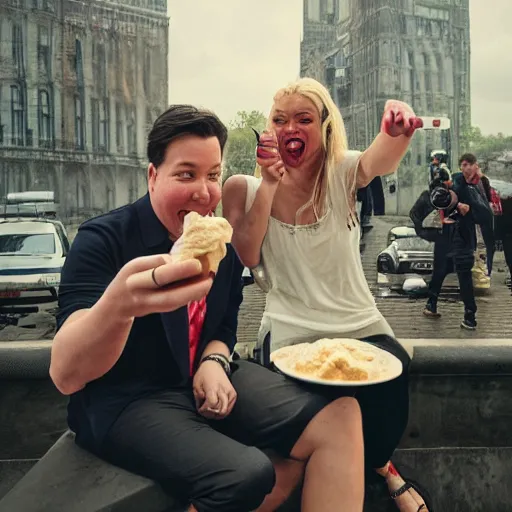
<path fill-rule="evenodd" d="M 302 0 L 169 0 L 170 101 L 268 113 L 299 76 Z M 512 134 L 511 0 L 470 0 L 473 124 Z"/>

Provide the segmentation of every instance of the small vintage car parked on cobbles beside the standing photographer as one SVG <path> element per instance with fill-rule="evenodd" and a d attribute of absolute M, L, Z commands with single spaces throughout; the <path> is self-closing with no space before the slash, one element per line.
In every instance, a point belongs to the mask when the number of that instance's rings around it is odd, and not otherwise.
<path fill-rule="evenodd" d="M 377 284 L 402 288 L 409 278 L 430 278 L 434 244 L 420 238 L 413 227 L 395 226 L 388 246 L 377 257 Z"/>

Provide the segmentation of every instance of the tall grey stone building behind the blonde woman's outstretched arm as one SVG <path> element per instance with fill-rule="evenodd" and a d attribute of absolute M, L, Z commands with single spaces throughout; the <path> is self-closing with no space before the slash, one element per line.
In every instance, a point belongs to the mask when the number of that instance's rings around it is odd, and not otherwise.
<path fill-rule="evenodd" d="M 304 0 L 301 74 L 328 86 L 354 148 L 371 143 L 390 98 L 450 118 L 450 135 L 415 136 L 404 164 L 423 167 L 440 146 L 456 157 L 471 125 L 469 28 L 469 0 Z"/>

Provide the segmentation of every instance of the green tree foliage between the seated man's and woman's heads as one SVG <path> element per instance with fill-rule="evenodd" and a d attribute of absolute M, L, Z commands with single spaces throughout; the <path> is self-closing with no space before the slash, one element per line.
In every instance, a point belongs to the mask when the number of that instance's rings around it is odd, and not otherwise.
<path fill-rule="evenodd" d="M 261 133 L 267 119 L 257 110 L 242 110 L 229 125 L 224 158 L 224 180 L 234 174 L 253 174 L 256 166 L 256 137 L 252 128 Z"/>

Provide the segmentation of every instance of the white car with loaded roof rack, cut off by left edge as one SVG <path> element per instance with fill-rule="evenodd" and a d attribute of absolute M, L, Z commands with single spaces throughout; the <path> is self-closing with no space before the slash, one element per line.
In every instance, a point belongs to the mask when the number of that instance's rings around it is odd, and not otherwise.
<path fill-rule="evenodd" d="M 21 206 L 21 205 L 16 205 Z M 0 311 L 36 312 L 45 303 L 55 302 L 60 273 L 69 240 L 63 224 L 30 214 L 23 205 L 21 216 L 12 208 L 0 211 Z M 47 205 L 46 210 L 50 208 Z"/>

